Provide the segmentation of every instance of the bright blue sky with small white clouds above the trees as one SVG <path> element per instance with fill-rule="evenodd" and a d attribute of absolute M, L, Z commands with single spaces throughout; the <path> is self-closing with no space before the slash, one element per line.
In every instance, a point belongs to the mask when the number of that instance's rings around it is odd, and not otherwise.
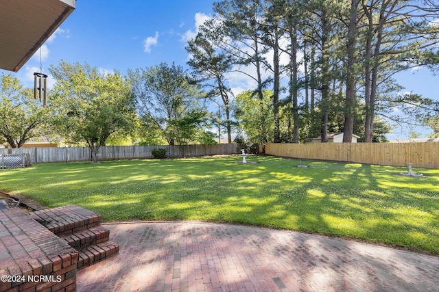
<path fill-rule="evenodd" d="M 117 70 L 122 75 L 128 69 L 155 66 L 160 62 L 175 62 L 187 67 L 186 42 L 195 36 L 198 25 L 213 14 L 212 0 L 78 0 L 76 9 L 60 29 L 47 40 L 34 57 L 17 73 L 11 73 L 29 87 L 33 72 L 43 67 L 48 73 L 51 64 L 61 60 L 87 62 L 102 71 Z M 41 62 L 40 62 L 41 60 Z M 425 69 L 404 72 L 397 80 L 412 91 L 439 100 L 438 81 Z M 252 87 L 244 77 L 231 77 L 235 94 Z M 53 84 L 49 80 L 49 85 Z M 414 129 L 422 135 L 428 128 Z M 408 137 L 411 129 L 394 129 L 390 139 Z"/>

